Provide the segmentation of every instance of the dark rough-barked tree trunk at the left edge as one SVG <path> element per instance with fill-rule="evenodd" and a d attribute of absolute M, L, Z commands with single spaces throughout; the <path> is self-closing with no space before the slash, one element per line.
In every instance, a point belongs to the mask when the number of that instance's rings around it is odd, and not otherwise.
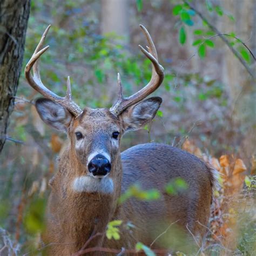
<path fill-rule="evenodd" d="M 29 11 L 30 0 L 0 1 L 0 153 L 14 109 Z"/>

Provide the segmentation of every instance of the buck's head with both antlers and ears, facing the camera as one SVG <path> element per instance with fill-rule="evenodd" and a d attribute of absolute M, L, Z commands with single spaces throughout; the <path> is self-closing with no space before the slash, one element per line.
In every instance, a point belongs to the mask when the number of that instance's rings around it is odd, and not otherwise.
<path fill-rule="evenodd" d="M 39 115 L 46 124 L 68 134 L 69 150 L 72 152 L 72 158 L 76 159 L 80 166 L 77 169 L 77 177 L 87 179 L 87 183 L 95 183 L 96 179 L 115 175 L 114 172 L 117 170 L 114 169 L 117 169 L 117 161 L 120 160 L 120 138 L 125 132 L 138 130 L 151 122 L 161 104 L 159 97 L 145 99 L 163 81 L 164 69 L 158 63 L 157 51 L 149 32 L 143 25 L 140 25 L 140 28 L 149 43 L 149 46 L 146 46 L 147 50 L 141 45 L 139 48 L 152 62 L 151 80 L 143 89 L 125 98 L 118 73 L 118 98 L 110 109 L 80 109 L 72 100 L 69 77 L 65 97 L 59 97 L 44 86 L 39 75 L 38 62 L 49 48 L 46 46 L 41 50 L 50 25 L 44 31 L 41 41 L 26 65 L 26 79 L 33 89 L 45 97 L 36 100 Z M 120 166 L 118 168 L 120 169 Z M 79 190 L 81 180 L 78 178 L 74 182 L 74 186 Z M 110 183 L 107 183 L 109 190 Z"/>

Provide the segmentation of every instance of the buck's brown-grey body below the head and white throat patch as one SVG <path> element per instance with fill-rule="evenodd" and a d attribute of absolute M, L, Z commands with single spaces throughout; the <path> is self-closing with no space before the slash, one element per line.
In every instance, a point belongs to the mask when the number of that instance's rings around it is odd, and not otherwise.
<path fill-rule="evenodd" d="M 123 179 L 112 177 L 116 189 L 113 193 L 104 193 L 76 192 L 72 184 L 67 185 L 70 179 L 65 176 L 65 172 L 61 172 L 62 164 L 68 163 L 65 154 L 62 156 L 65 160 L 60 160 L 59 171 L 52 182 L 48 205 L 49 237 L 46 240 L 59 244 L 52 246 L 51 255 L 78 252 L 91 235 L 104 232 L 107 223 L 114 219 L 131 221 L 136 229 L 132 234 L 128 231 L 122 233 L 117 241 L 108 240 L 104 235 L 95 238 L 90 247 L 134 248 L 138 241 L 150 245 L 158 234 L 177 220 L 184 231 L 187 225 L 194 235 L 203 237 L 203 225 L 207 225 L 210 215 L 213 176 L 212 170 L 197 157 L 165 144 L 134 146 L 121 154 L 122 160 L 118 159 L 117 166 L 121 169 L 123 166 Z M 68 170 L 68 166 L 64 170 Z M 188 190 L 179 196 L 165 193 L 165 184 L 178 177 L 187 182 Z M 59 180 L 63 184 L 57 183 Z M 161 198 L 150 203 L 131 198 L 123 205 L 118 205 L 121 191 L 124 193 L 134 183 L 139 183 L 145 190 L 157 188 L 162 192 Z M 160 224 L 159 228 L 157 224 Z M 163 241 L 159 241 L 154 246 L 161 248 Z"/>

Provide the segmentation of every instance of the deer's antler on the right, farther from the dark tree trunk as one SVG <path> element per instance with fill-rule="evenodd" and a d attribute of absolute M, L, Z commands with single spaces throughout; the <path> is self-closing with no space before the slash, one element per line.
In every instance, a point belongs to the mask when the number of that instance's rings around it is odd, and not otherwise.
<path fill-rule="evenodd" d="M 139 45 L 139 48 L 140 50 L 142 50 L 144 55 L 147 58 L 149 58 L 152 62 L 152 76 L 151 76 L 150 82 L 145 87 L 143 87 L 143 89 L 134 93 L 130 97 L 124 98 L 122 93 L 121 78 L 118 73 L 117 75 L 118 99 L 116 100 L 116 103 L 114 103 L 113 106 L 110 108 L 110 111 L 116 116 L 118 116 L 125 109 L 127 109 L 127 107 L 140 102 L 140 100 L 143 100 L 144 98 L 149 96 L 152 92 L 156 91 L 157 88 L 160 86 L 160 84 L 164 80 L 164 68 L 158 63 L 157 50 L 151 39 L 150 33 L 146 30 L 146 28 L 143 25 L 140 25 L 140 28 L 142 28 L 147 38 L 147 42 L 149 43 L 149 46 L 146 46 L 147 50 L 145 50 L 141 45 Z"/>

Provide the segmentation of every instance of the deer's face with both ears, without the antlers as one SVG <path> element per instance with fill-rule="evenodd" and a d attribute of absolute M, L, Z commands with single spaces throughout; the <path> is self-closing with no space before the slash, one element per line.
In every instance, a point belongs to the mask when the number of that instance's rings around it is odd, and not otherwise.
<path fill-rule="evenodd" d="M 152 97 L 128 107 L 119 116 L 108 109 L 86 107 L 75 118 L 64 106 L 40 98 L 36 101 L 36 109 L 46 124 L 68 134 L 71 150 L 85 167 L 85 174 L 102 179 L 111 173 L 116 159 L 120 158 L 122 135 L 151 122 L 160 104 L 161 98 Z"/>

